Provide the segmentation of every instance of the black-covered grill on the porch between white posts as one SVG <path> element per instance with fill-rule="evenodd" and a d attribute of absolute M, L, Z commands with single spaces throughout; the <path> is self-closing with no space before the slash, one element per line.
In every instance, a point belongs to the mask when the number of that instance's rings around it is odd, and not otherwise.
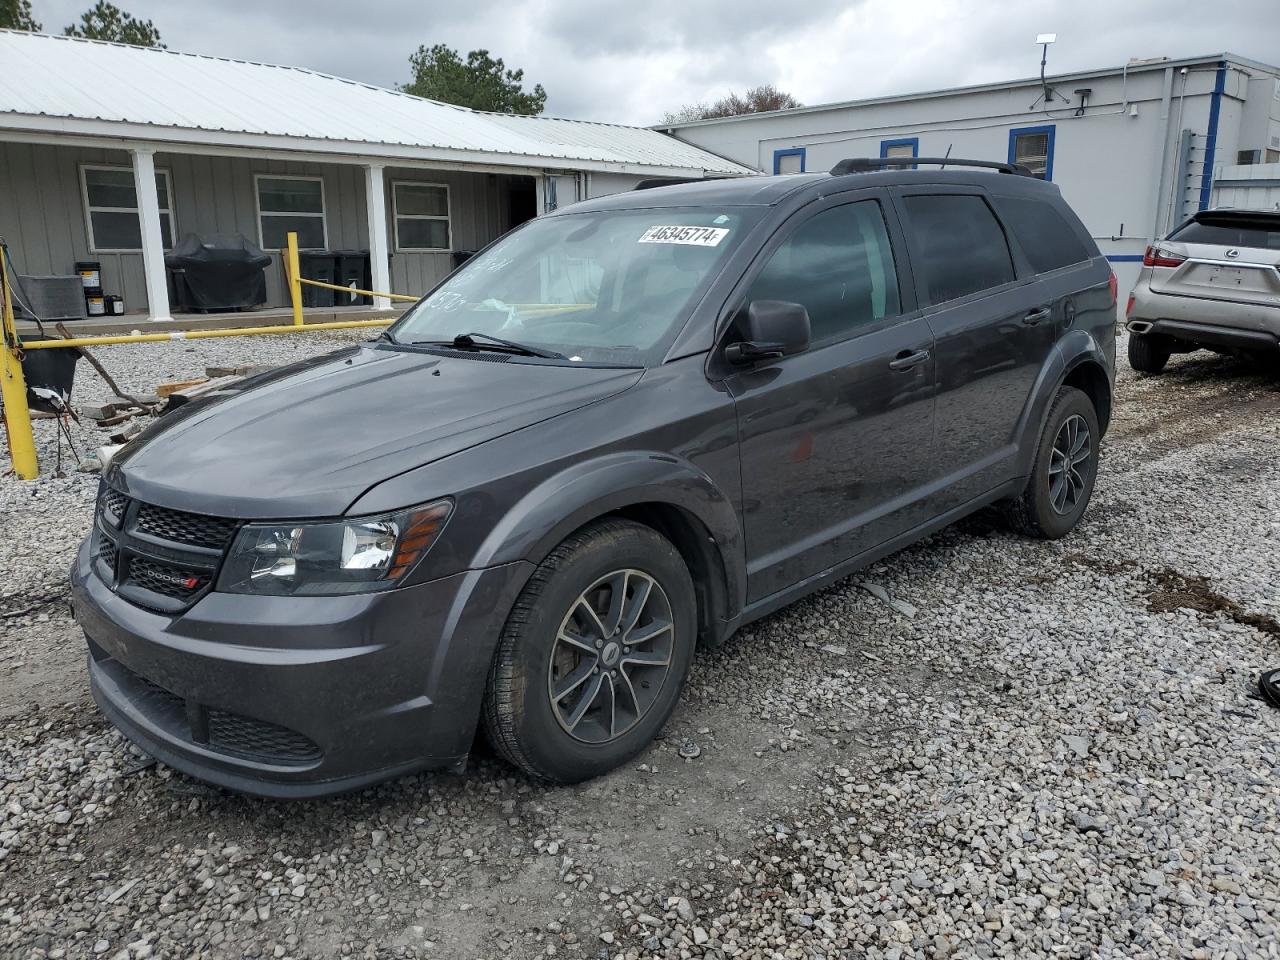
<path fill-rule="evenodd" d="M 187 310 L 247 310 L 266 303 L 271 257 L 239 233 L 188 233 L 164 259 L 173 274 L 177 306 Z"/>

